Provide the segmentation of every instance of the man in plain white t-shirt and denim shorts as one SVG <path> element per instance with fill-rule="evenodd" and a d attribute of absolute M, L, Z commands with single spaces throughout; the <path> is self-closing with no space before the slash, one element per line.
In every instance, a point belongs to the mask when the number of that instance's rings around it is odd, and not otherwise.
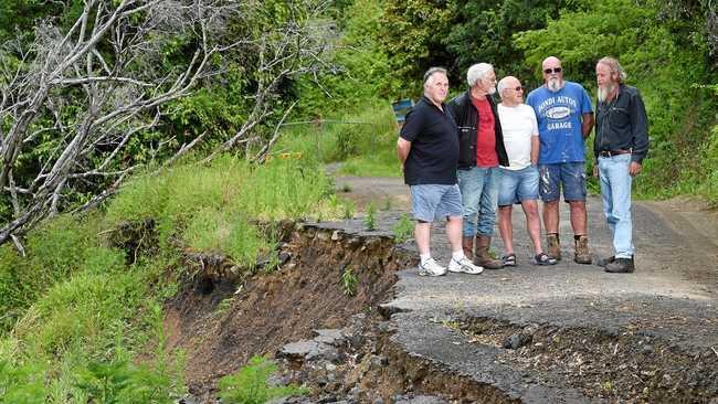
<path fill-rule="evenodd" d="M 500 166 L 498 188 L 498 230 L 506 254 L 504 266 L 516 266 L 511 205 L 520 203 L 526 214 L 526 227 L 534 243 L 535 265 L 553 265 L 556 259 L 541 248 L 541 220 L 538 212 L 539 198 L 539 137 L 534 108 L 524 104 L 524 87 L 518 78 L 506 76 L 498 82 L 498 117 L 504 129 L 504 146 L 508 153 L 508 167 Z"/>

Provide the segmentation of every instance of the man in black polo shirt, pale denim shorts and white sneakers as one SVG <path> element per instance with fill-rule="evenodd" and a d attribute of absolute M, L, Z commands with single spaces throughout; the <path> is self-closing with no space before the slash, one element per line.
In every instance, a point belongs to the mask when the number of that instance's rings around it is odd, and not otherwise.
<path fill-rule="evenodd" d="M 416 220 L 414 237 L 421 257 L 419 275 L 446 274 L 446 267 L 431 257 L 431 223 L 435 217 L 446 220 L 446 235 L 452 247 L 448 270 L 472 275 L 484 270 L 467 259 L 462 248 L 463 206 L 456 184 L 458 132 L 454 118 L 443 104 L 447 93 L 446 71 L 441 67 L 426 71 L 424 96 L 406 115 L 397 142 Z"/>

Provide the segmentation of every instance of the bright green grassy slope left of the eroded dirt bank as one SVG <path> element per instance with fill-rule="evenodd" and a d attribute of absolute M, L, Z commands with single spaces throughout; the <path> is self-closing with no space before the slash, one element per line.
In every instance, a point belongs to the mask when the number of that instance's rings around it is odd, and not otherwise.
<path fill-rule="evenodd" d="M 338 219 L 347 205 L 332 190 L 308 161 L 224 156 L 137 176 L 104 212 L 49 221 L 28 234 L 28 257 L 0 246 L 0 403 L 172 402 L 182 365 L 163 345 L 162 301 L 186 270 L 182 249 L 252 269 L 274 248 L 257 219 Z M 130 265 L 107 237 L 147 219 L 158 246 Z"/>

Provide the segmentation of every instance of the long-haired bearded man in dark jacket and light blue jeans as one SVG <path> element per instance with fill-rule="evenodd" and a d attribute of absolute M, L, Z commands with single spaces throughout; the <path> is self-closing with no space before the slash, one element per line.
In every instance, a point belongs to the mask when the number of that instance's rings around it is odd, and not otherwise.
<path fill-rule="evenodd" d="M 614 255 L 600 259 L 609 273 L 635 270 L 631 187 L 648 151 L 648 119 L 635 87 L 625 85 L 626 74 L 617 60 L 603 57 L 595 65 L 599 85 L 593 155 L 594 174 L 601 181 L 603 212 L 613 234 Z"/>

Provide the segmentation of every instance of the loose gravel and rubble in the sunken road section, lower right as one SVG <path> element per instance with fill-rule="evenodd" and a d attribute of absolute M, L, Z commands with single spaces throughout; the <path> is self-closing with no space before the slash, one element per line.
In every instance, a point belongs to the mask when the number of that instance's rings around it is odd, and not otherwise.
<path fill-rule="evenodd" d="M 610 402 L 701 403 L 718 395 L 718 353 L 686 352 L 640 329 L 517 326 L 492 318 L 457 323 L 471 343 L 541 384 L 568 384 Z M 712 402 L 711 402 L 712 403 Z"/>

